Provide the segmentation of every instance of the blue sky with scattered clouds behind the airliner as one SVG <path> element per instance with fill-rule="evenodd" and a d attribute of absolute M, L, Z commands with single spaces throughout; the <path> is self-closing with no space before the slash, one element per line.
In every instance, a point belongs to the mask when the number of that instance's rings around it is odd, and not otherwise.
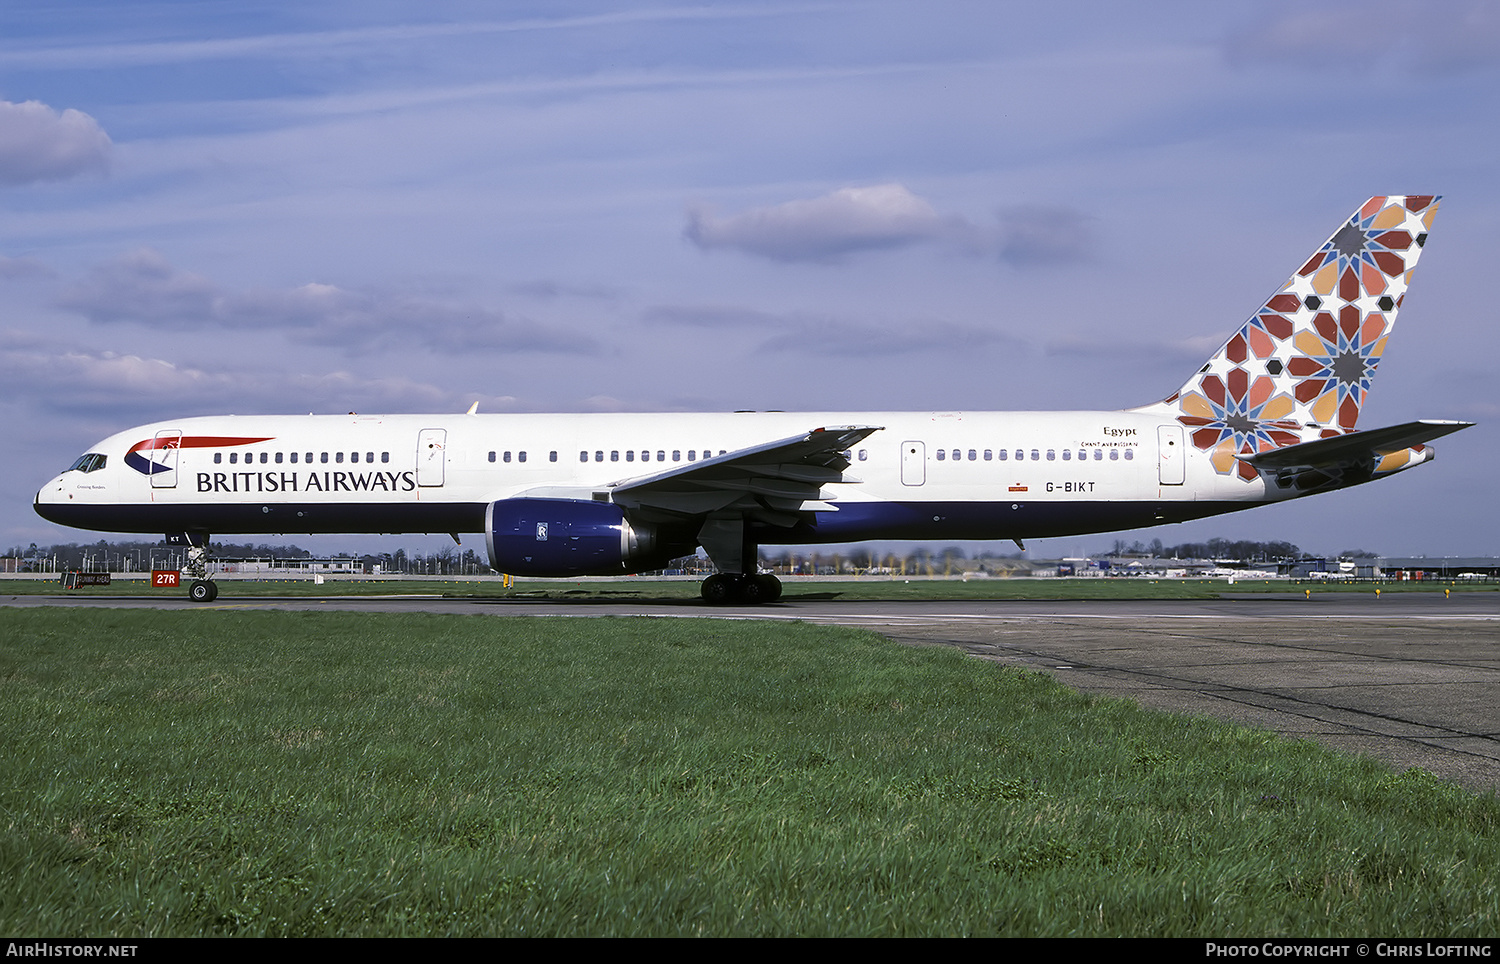
<path fill-rule="evenodd" d="M 190 414 L 1143 405 L 1442 193 L 1360 424 L 1480 424 L 1138 537 L 1500 553 L 1497 6 L 6 3 L 0 543 Z"/>

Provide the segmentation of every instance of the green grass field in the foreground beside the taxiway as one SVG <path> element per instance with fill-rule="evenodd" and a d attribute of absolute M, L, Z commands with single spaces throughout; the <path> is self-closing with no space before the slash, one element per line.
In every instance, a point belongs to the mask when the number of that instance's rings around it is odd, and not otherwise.
<path fill-rule="evenodd" d="M 804 624 L 0 609 L 0 933 L 1494 936 L 1500 802 Z"/>

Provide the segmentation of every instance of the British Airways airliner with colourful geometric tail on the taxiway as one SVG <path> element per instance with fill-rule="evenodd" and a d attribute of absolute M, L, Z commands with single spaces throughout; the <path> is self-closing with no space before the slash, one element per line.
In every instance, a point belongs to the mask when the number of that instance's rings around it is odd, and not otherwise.
<path fill-rule="evenodd" d="M 36 495 L 62 525 L 483 534 L 518 576 L 699 546 L 711 603 L 772 601 L 764 544 L 1016 540 L 1185 522 L 1430 462 L 1466 421 L 1356 427 L 1436 196 L 1371 198 L 1166 400 L 1113 412 L 219 415 L 112 435 Z"/>

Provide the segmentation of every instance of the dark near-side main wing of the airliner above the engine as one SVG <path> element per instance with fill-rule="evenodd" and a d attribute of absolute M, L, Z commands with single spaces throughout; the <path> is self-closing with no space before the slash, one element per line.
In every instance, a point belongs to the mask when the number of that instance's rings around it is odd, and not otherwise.
<path fill-rule="evenodd" d="M 610 493 L 616 505 L 645 517 L 735 513 L 748 522 L 792 526 L 800 513 L 836 508 L 824 501 L 824 486 L 855 481 L 844 477 L 848 450 L 879 430 L 880 426 L 825 426 L 627 478 L 614 483 Z"/>

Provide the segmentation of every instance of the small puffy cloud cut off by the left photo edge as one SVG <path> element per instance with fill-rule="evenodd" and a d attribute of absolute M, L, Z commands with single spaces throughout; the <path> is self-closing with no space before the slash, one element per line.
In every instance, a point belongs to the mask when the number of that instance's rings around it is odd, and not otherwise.
<path fill-rule="evenodd" d="M 0 100 L 0 183 L 57 181 L 104 174 L 110 135 L 72 108 L 58 114 L 39 100 Z"/>

